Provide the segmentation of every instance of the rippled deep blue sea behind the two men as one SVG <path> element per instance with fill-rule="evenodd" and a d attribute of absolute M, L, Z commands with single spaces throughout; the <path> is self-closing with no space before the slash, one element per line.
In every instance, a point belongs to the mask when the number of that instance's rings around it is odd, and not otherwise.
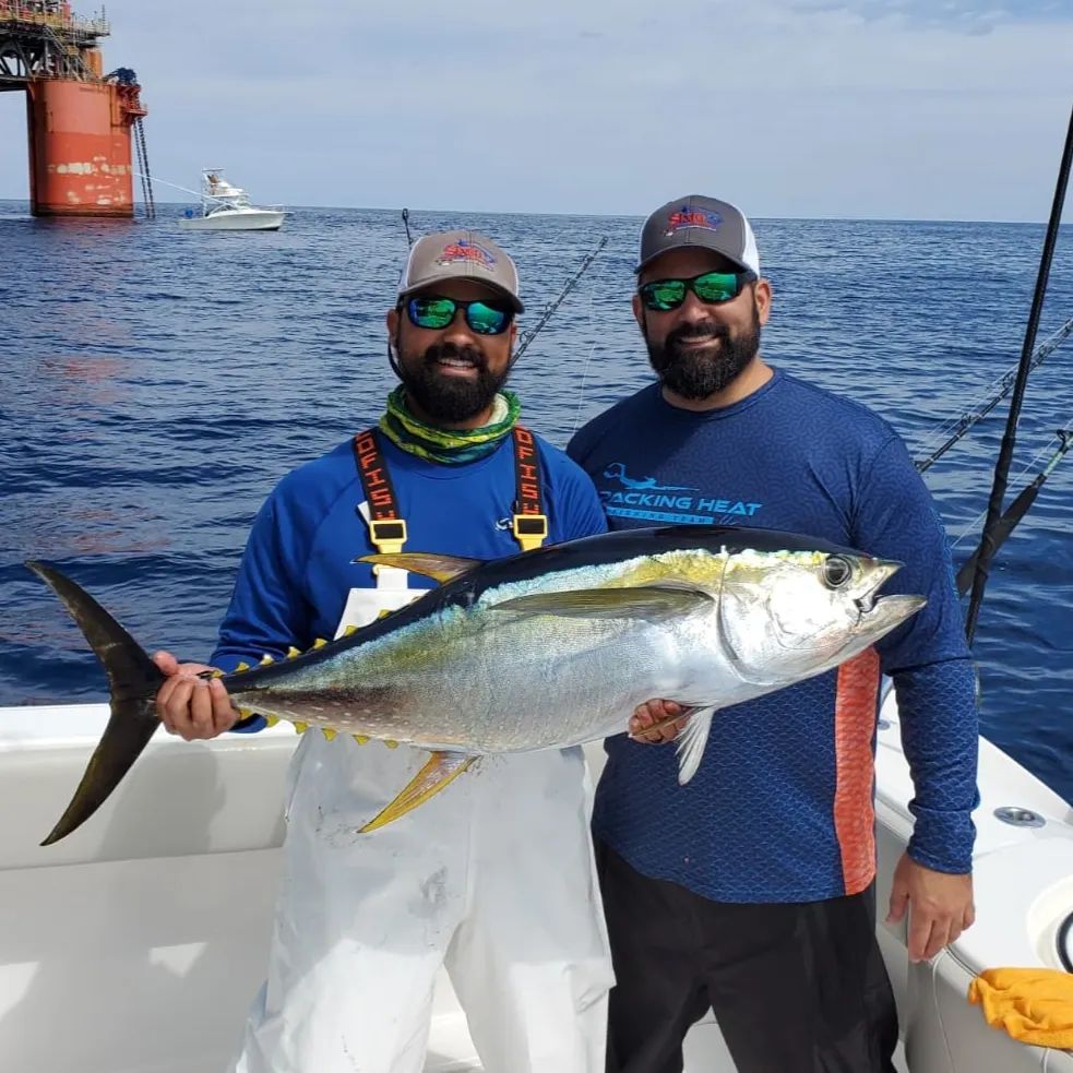
<path fill-rule="evenodd" d="M 397 212 L 300 208 L 275 234 L 36 220 L 0 202 L 0 705 L 95 701 L 105 679 L 44 558 L 150 651 L 203 659 L 255 510 L 288 469 L 373 422 L 406 233 Z M 517 366 L 524 420 L 552 442 L 651 373 L 630 312 L 640 219 L 412 210 L 516 257 L 534 325 L 607 246 Z M 880 412 L 914 453 L 1017 360 L 1042 225 L 754 220 L 775 303 L 768 361 Z M 1073 317 L 1060 236 L 1039 342 Z M 1009 401 L 927 474 L 964 560 L 979 537 Z M 1033 374 L 1011 496 L 1073 419 L 1073 338 Z M 643 434 L 643 430 L 639 430 Z M 1073 799 L 1073 457 L 1002 548 L 976 655 L 985 734 Z"/>

